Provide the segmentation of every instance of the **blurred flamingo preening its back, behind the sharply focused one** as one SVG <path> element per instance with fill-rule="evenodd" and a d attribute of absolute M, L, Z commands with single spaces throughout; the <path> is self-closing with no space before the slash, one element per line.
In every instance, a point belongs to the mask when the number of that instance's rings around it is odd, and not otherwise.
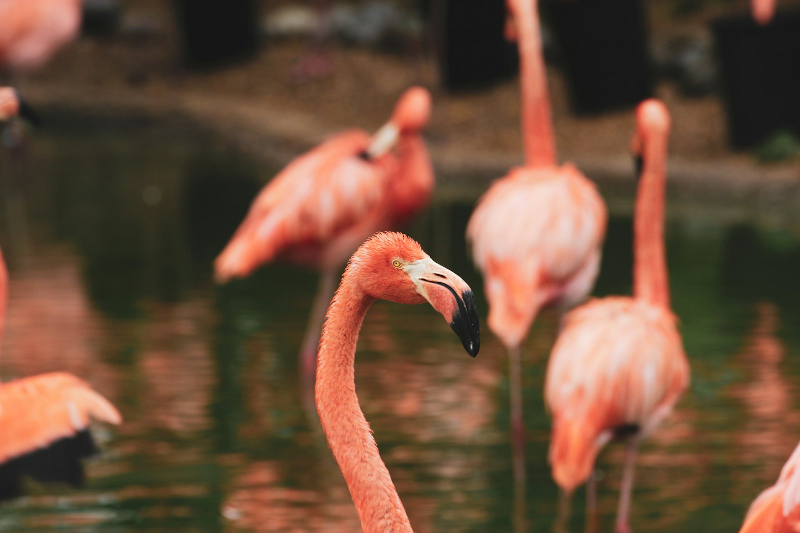
<path fill-rule="evenodd" d="M 220 281 L 275 259 L 321 270 L 301 348 L 306 376 L 314 374 L 338 268 L 367 237 L 402 225 L 427 205 L 434 172 L 420 133 L 428 117 L 430 93 L 412 87 L 374 136 L 339 133 L 292 161 L 258 194 L 214 263 Z"/>

